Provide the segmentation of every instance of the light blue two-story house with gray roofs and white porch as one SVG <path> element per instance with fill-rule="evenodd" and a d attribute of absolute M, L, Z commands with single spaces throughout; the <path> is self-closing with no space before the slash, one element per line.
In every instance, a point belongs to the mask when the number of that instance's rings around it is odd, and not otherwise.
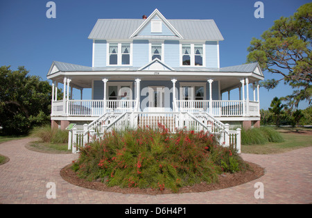
<path fill-rule="evenodd" d="M 115 119 L 123 112 L 145 117 L 187 112 L 205 125 L 259 126 L 261 68 L 257 63 L 220 67 L 223 36 L 214 20 L 166 19 L 156 9 L 143 19 L 98 19 L 89 40 L 92 67 L 54 61 L 49 69 L 52 126 L 94 124 L 108 112 Z M 58 87 L 63 99 L 57 99 Z M 80 99 L 72 99 L 73 88 Z M 87 88 L 91 99 L 83 99 Z M 234 89 L 239 89 L 236 99 L 223 94 Z M 185 117 L 179 119 L 180 124 L 171 119 L 173 126 L 187 126 L 181 123 Z"/>

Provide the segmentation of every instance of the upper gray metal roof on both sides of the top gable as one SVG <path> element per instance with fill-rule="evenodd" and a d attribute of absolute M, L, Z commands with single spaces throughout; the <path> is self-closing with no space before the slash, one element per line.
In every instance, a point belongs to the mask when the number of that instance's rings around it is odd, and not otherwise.
<path fill-rule="evenodd" d="M 213 19 L 167 19 L 167 21 L 182 35 L 184 40 L 224 40 Z M 88 38 L 93 40 L 129 39 L 143 22 L 144 19 L 98 19 Z M 146 36 L 135 38 L 146 38 Z M 157 38 L 177 39 L 173 36 L 158 36 Z"/>

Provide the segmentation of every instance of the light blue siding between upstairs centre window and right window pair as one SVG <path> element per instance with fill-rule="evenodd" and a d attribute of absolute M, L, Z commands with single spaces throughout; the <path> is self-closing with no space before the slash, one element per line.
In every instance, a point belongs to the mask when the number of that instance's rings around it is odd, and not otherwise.
<path fill-rule="evenodd" d="M 179 41 L 164 41 L 164 62 L 171 67 L 180 67 Z"/>

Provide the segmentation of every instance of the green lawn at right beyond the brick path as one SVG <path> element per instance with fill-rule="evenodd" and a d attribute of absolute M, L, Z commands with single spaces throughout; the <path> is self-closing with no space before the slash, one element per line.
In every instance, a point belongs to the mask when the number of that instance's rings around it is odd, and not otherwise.
<path fill-rule="evenodd" d="M 276 128 L 284 137 L 284 142 L 268 144 L 242 145 L 242 153 L 270 154 L 282 153 L 299 149 L 306 146 L 312 146 L 311 128 Z"/>

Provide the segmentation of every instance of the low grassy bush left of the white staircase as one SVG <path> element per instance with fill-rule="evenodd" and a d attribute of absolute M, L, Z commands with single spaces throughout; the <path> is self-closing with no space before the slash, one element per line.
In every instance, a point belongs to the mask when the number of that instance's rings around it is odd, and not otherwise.
<path fill-rule="evenodd" d="M 67 131 L 62 131 L 59 128 L 51 128 L 50 125 L 34 128 L 31 131 L 31 136 L 39 137 L 42 142 L 51 142 L 55 144 L 68 142 Z"/>

